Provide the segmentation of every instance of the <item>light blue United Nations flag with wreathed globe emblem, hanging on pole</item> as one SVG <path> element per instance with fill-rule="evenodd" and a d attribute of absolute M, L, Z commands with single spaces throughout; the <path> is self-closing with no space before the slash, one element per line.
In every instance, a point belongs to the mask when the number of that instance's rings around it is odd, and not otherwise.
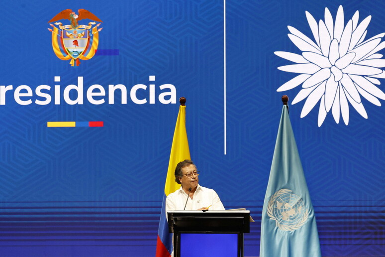
<path fill-rule="evenodd" d="M 321 257 L 313 205 L 287 106 L 282 109 L 263 205 L 260 257 Z"/>

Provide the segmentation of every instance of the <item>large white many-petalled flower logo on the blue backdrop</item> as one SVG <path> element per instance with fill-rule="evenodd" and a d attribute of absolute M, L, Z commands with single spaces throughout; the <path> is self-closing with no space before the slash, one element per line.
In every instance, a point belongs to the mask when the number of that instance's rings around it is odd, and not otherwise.
<path fill-rule="evenodd" d="M 277 91 L 286 91 L 302 84 L 302 90 L 292 104 L 305 98 L 301 118 L 305 117 L 320 101 L 318 127 L 324 122 L 328 112 L 332 112 L 336 123 L 340 114 L 346 125 L 349 124 L 349 105 L 365 119 L 368 119 L 361 97 L 374 105 L 381 106 L 377 98 L 385 100 L 385 94 L 377 86 L 379 78 L 385 78 L 383 55 L 377 53 L 385 48 L 381 42 L 385 33 L 365 40 L 367 27 L 372 16 L 358 24 L 359 12 L 353 15 L 344 26 L 344 10 L 339 6 L 335 24 L 328 8 L 325 8 L 325 21 L 315 21 L 306 11 L 306 18 L 315 42 L 288 26 L 290 40 L 302 55 L 290 52 L 275 52 L 276 55 L 296 64 L 278 67 L 279 70 L 301 73 L 283 84 Z"/>

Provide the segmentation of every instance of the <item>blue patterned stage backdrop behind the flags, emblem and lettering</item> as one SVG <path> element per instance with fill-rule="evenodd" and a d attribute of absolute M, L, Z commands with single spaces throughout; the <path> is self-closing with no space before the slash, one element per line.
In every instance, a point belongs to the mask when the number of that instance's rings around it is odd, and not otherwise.
<path fill-rule="evenodd" d="M 287 26 L 313 38 L 305 11 L 324 20 L 328 7 L 334 20 L 340 4 L 345 25 L 356 10 L 359 22 L 372 15 L 365 39 L 385 32 L 381 0 L 226 0 L 225 33 L 223 1 L 2 3 L 0 85 L 13 89 L 0 92 L 0 256 L 154 256 L 180 97 L 187 98 L 199 182 L 214 188 L 226 209 L 251 211 L 256 223 L 245 236 L 245 256 L 258 256 L 281 96 L 291 101 L 300 91 L 277 92 L 294 74 L 277 69 L 292 63 L 274 52 L 301 54 Z M 66 8 L 87 9 L 103 21 L 98 52 L 78 67 L 55 56 L 47 30 Z M 84 104 L 69 105 L 63 90 L 78 77 L 84 78 Z M 127 104 L 118 93 L 114 104 L 108 96 L 91 104 L 86 91 L 94 84 L 106 92 L 110 84 L 124 85 Z M 147 86 L 137 91 L 147 100 L 142 105 L 130 98 L 137 84 Z M 150 84 L 155 104 L 149 103 Z M 176 104 L 158 100 L 164 84 L 175 86 Z M 20 85 L 32 89 L 32 97 L 20 98 L 31 104 L 15 101 Z M 52 99 L 60 85 L 60 105 L 35 104 L 39 85 L 51 86 Z M 348 126 L 328 114 L 318 127 L 319 104 L 301 119 L 303 102 L 290 105 L 290 119 L 322 255 L 385 256 L 384 108 L 363 98 L 368 119 L 350 106 Z M 103 127 L 47 127 L 58 121 L 102 121 Z"/>

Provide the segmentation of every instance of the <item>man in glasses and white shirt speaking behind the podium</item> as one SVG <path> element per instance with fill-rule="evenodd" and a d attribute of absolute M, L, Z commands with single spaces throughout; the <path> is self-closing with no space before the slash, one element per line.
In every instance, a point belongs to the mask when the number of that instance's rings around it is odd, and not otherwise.
<path fill-rule="evenodd" d="M 166 198 L 169 210 L 224 210 L 217 193 L 198 184 L 199 171 L 192 160 L 184 160 L 175 168 L 175 181 L 181 188 Z"/>

